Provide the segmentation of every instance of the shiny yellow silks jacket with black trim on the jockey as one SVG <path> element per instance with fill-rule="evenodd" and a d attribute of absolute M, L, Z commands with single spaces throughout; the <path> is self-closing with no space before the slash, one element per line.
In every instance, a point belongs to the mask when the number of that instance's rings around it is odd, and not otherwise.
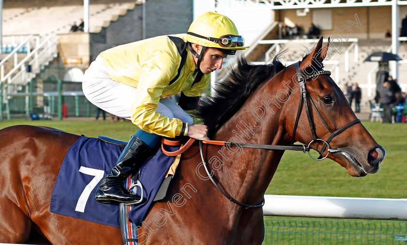
<path fill-rule="evenodd" d="M 186 34 L 171 36 L 187 42 Z M 131 105 L 131 121 L 143 131 L 161 136 L 173 138 L 180 135 L 182 121 L 158 114 L 159 99 L 181 91 L 189 97 L 201 96 L 210 82 L 210 75 L 204 74 L 201 81 L 191 87 L 195 79 L 195 63 L 188 50 L 178 79 L 169 85 L 178 73 L 181 56 L 168 36 L 120 45 L 101 52 L 99 56 L 112 80 L 137 88 Z"/>

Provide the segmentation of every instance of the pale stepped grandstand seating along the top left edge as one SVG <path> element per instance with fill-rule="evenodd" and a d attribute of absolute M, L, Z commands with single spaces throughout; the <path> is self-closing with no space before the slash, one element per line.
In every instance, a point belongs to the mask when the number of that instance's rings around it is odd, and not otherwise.
<path fill-rule="evenodd" d="M 92 0 L 89 6 L 90 32 L 98 33 L 108 27 L 110 21 L 126 14 L 141 1 Z M 4 1 L 3 34 L 50 34 L 68 33 L 74 21 L 79 24 L 83 18 L 83 0 Z"/>

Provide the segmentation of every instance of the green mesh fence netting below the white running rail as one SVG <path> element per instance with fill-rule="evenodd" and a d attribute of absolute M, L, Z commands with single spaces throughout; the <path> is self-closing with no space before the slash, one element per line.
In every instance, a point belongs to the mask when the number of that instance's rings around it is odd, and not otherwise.
<path fill-rule="evenodd" d="M 263 245 L 405 245 L 407 221 L 265 218 Z M 401 235 L 401 236 L 400 236 Z"/>

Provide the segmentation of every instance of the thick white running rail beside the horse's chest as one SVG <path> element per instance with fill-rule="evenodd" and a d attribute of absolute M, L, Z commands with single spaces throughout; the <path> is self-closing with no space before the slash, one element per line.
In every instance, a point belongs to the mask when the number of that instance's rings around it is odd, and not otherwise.
<path fill-rule="evenodd" d="M 264 215 L 407 220 L 407 199 L 265 195 Z"/>

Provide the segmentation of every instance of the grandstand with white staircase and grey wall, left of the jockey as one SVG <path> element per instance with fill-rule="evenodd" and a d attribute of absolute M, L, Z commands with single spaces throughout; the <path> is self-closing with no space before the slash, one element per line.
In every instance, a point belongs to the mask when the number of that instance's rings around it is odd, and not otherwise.
<path fill-rule="evenodd" d="M 80 97 L 81 76 L 98 53 L 143 38 L 185 33 L 193 19 L 190 0 L 147 0 L 144 4 L 140 0 L 92 0 L 89 33 L 69 33 L 72 23 L 84 18 L 83 1 L 4 0 L 0 115 L 42 112 L 44 93 L 57 92 L 59 80 L 70 116 L 94 114 L 93 105 L 79 107 L 78 113 L 76 103 L 88 103 Z M 51 112 L 57 112 L 58 98 L 47 95 L 54 101 Z"/>

